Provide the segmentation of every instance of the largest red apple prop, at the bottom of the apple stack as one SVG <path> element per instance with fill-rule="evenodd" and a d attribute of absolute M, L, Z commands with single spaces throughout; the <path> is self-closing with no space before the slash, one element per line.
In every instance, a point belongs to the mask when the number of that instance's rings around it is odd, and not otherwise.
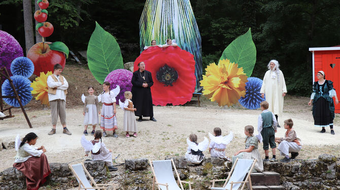
<path fill-rule="evenodd" d="M 51 50 L 49 45 L 51 42 L 42 42 L 33 45 L 27 53 L 27 57 L 33 62 L 35 70 L 34 74 L 40 76 L 40 72 L 53 72 L 53 67 L 60 64 L 65 67 L 65 55 L 61 51 Z"/>

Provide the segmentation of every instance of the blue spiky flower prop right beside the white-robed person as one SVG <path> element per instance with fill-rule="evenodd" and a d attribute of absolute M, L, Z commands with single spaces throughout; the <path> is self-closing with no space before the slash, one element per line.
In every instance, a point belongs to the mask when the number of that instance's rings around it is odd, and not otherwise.
<path fill-rule="evenodd" d="M 256 77 L 249 77 L 246 82 L 246 95 L 239 100 L 240 104 L 251 110 L 260 108 L 260 103 L 265 101 L 265 97 L 261 97 L 262 80 Z"/>

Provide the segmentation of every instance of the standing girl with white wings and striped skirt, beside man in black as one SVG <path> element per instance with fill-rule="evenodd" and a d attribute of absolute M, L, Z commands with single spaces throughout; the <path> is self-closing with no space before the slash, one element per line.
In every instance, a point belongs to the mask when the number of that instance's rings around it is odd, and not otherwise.
<path fill-rule="evenodd" d="M 103 89 L 104 92 L 101 93 L 101 102 L 103 103 L 103 107 L 101 108 L 100 115 L 100 129 L 103 129 L 104 137 L 108 136 L 106 131 L 113 131 L 113 136 L 117 138 L 116 96 L 118 95 L 120 88 L 117 85 L 115 89 L 110 91 L 110 82 L 105 81 Z"/>

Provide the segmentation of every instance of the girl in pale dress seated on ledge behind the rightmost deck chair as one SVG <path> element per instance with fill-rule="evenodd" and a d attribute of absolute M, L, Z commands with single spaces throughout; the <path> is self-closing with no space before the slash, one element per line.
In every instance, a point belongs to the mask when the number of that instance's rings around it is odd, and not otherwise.
<path fill-rule="evenodd" d="M 239 159 L 256 159 L 256 164 L 254 169 L 262 172 L 263 171 L 263 161 L 258 151 L 258 139 L 254 134 L 254 127 L 252 125 L 245 126 L 245 135 L 247 136 L 245 143 L 245 149 L 237 151 L 232 156 L 232 165 L 236 161 L 237 158 Z"/>

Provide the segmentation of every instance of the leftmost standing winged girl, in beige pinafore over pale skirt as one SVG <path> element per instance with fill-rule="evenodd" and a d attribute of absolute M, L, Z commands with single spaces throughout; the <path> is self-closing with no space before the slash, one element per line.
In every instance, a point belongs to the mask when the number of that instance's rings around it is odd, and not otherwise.
<path fill-rule="evenodd" d="M 87 126 L 92 125 L 92 132 L 91 135 L 94 134 L 95 125 L 99 123 L 98 114 L 100 114 L 99 110 L 99 101 L 98 97 L 93 95 L 94 89 L 92 86 L 87 88 L 89 96 L 85 97 L 84 94 L 82 95 L 82 101 L 84 102 L 84 135 L 88 135 L 87 133 Z"/>

